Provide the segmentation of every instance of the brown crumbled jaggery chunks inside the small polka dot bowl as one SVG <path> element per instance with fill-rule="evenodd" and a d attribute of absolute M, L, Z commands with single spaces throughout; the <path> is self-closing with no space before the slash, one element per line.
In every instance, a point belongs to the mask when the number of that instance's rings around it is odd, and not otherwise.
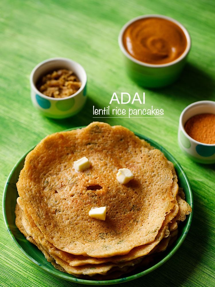
<path fill-rule="evenodd" d="M 39 79 L 38 90 L 52 98 L 65 98 L 75 94 L 81 87 L 79 78 L 67 69 L 59 69 Z"/>

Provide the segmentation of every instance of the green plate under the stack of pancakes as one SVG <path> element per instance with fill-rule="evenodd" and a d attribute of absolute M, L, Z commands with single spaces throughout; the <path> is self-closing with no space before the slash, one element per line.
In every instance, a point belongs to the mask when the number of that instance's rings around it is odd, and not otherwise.
<path fill-rule="evenodd" d="M 186 201 L 191 205 L 193 209 L 193 198 L 192 198 L 191 187 L 187 179 L 187 176 L 183 171 L 183 169 L 181 168 L 180 164 L 175 160 L 175 158 L 171 154 L 169 154 L 169 152 L 167 152 L 162 146 L 157 144 L 155 141 L 152 141 L 151 139 L 148 139 L 139 134 L 136 135 L 141 139 L 145 139 L 146 141 L 148 141 L 155 148 L 161 150 L 168 158 L 168 160 L 173 162 L 175 170 L 177 172 L 179 186 L 183 187 L 186 196 Z M 30 152 L 30 150 L 28 152 Z M 171 250 L 163 252 L 162 257 L 157 259 L 157 261 L 154 262 L 153 266 L 149 266 L 148 268 L 136 269 L 135 272 L 128 274 L 129 275 L 128 277 L 123 277 L 115 280 L 103 280 L 103 281 L 84 280 L 56 270 L 51 265 L 51 263 L 49 263 L 45 259 L 42 252 L 32 243 L 27 241 L 24 235 L 21 234 L 21 232 L 19 232 L 18 228 L 15 226 L 14 210 L 16 205 L 16 199 L 18 197 L 16 183 L 19 178 L 19 172 L 24 166 L 24 160 L 28 152 L 26 152 L 26 154 L 24 154 L 24 156 L 17 162 L 17 164 L 14 166 L 13 170 L 11 171 L 7 179 L 7 183 L 5 185 L 3 194 L 3 215 L 5 224 L 7 226 L 7 231 L 9 232 L 10 236 L 12 237 L 17 247 L 21 250 L 21 252 L 24 253 L 24 255 L 26 255 L 26 257 L 28 257 L 32 262 L 34 262 L 47 272 L 51 273 L 52 275 L 62 278 L 64 280 L 89 285 L 110 285 L 134 280 L 138 277 L 148 274 L 149 272 L 155 270 L 163 263 L 165 263 L 177 251 L 177 249 L 181 246 L 182 242 L 184 241 L 187 232 L 190 228 L 193 212 L 189 214 L 189 216 L 187 216 L 186 220 L 183 223 L 180 224 L 178 238 L 175 241 L 174 245 L 172 245 Z"/>

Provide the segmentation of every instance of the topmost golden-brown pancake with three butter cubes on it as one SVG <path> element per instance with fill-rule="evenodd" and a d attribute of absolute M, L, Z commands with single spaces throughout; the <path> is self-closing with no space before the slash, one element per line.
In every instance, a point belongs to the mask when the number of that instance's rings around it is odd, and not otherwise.
<path fill-rule="evenodd" d="M 90 168 L 76 172 L 86 156 Z M 133 174 L 116 179 L 119 168 Z M 161 151 L 128 129 L 91 123 L 47 136 L 27 156 L 17 189 L 44 238 L 75 255 L 110 257 L 155 240 L 174 207 L 173 173 Z M 106 206 L 105 221 L 89 218 Z"/>

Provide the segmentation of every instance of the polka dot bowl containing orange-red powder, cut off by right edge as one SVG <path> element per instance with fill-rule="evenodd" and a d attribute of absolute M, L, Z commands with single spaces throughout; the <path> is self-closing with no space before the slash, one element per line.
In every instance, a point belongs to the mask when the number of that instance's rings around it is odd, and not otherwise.
<path fill-rule="evenodd" d="M 187 106 L 181 113 L 178 129 L 178 143 L 181 150 L 192 160 L 204 164 L 215 163 L 215 144 L 204 144 L 191 138 L 184 126 L 191 117 L 211 113 L 215 114 L 214 101 L 199 101 Z"/>

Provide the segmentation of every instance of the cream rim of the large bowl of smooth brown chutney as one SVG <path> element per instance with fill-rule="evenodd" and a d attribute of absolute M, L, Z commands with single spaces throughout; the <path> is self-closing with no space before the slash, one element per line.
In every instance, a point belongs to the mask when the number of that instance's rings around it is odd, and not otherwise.
<path fill-rule="evenodd" d="M 150 63 L 145 63 L 145 62 L 141 62 L 139 60 L 137 60 L 136 58 L 134 58 L 133 56 L 131 56 L 128 51 L 125 49 L 124 47 L 124 44 L 123 44 L 123 34 L 126 30 L 126 28 L 132 24 L 133 22 L 136 22 L 137 20 L 140 20 L 140 19 L 145 19 L 145 18 L 161 18 L 161 19 L 166 19 L 166 20 L 169 20 L 173 23 L 175 23 L 177 26 L 179 26 L 181 28 L 181 30 L 183 31 L 186 39 L 187 39 L 187 46 L 186 46 L 186 49 L 184 50 L 184 52 L 181 54 L 180 57 L 178 57 L 177 59 L 175 59 L 174 61 L 171 61 L 169 63 L 165 63 L 165 64 L 150 64 Z M 133 18 L 131 19 L 130 21 L 128 21 L 126 24 L 124 24 L 124 26 L 122 27 L 122 29 L 120 30 L 120 34 L 118 36 L 118 44 L 120 46 L 120 49 L 122 51 L 122 53 L 128 58 L 130 59 L 132 62 L 136 63 L 136 64 L 139 64 L 141 66 L 144 66 L 144 67 L 151 67 L 151 68 L 163 68 L 163 67 L 169 67 L 169 66 L 172 66 L 178 62 L 180 62 L 181 60 L 183 60 L 187 54 L 189 53 L 190 51 L 190 48 L 191 48 L 191 36 L 189 34 L 189 32 L 187 31 L 187 29 L 185 28 L 185 26 L 183 26 L 179 21 L 171 18 L 171 17 L 168 17 L 168 16 L 165 16 L 165 15 L 161 15 L 161 14 L 146 14 L 146 15 L 140 15 L 136 18 Z"/>

